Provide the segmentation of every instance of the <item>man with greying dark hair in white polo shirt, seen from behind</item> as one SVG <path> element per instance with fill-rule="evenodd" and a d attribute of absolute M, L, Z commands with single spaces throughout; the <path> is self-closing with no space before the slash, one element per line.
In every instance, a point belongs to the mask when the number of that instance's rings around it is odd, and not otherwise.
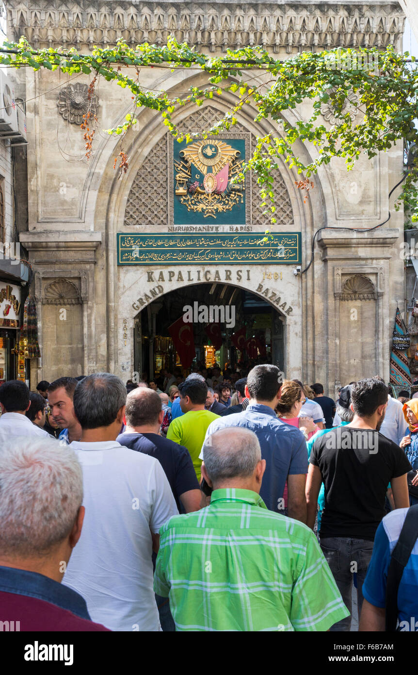
<path fill-rule="evenodd" d="M 160 462 L 115 440 L 125 401 L 125 386 L 109 373 L 88 375 L 74 391 L 82 437 L 70 447 L 83 468 L 86 516 L 63 583 L 84 597 L 94 622 L 100 617 L 111 630 L 160 630 L 152 549 L 178 510 Z"/>

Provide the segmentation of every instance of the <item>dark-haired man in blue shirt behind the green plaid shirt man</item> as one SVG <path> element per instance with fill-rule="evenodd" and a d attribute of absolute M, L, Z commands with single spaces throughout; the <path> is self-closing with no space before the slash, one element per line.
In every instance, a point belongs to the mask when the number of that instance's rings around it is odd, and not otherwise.
<path fill-rule="evenodd" d="M 308 469 L 305 437 L 290 425 L 282 423 L 274 408 L 280 399 L 281 373 L 276 366 L 259 365 L 248 374 L 245 396 L 250 399 L 243 412 L 221 417 L 212 422 L 206 439 L 218 429 L 245 427 L 258 437 L 262 458 L 266 460 L 260 496 L 267 508 L 281 511 L 287 481 L 288 514 L 306 522 L 305 479 Z M 202 454 L 200 458 L 203 458 Z"/>

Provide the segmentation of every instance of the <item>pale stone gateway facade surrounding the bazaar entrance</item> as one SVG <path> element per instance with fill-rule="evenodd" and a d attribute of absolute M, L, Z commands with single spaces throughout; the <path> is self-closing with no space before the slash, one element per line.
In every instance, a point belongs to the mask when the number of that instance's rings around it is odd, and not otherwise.
<path fill-rule="evenodd" d="M 120 37 L 136 44 L 164 43 L 167 32 L 203 51 L 260 43 L 284 56 L 299 49 L 338 45 L 394 45 L 401 48 L 404 15 L 398 3 L 386 0 L 351 3 L 74 3 L 71 9 L 54 1 L 7 0 L 9 38 L 26 35 L 39 47 L 63 49 L 76 45 L 91 49 L 94 43 L 112 45 Z M 34 265 L 34 293 L 38 304 L 42 359 L 32 365 L 32 380 L 58 374 L 78 375 L 106 370 L 123 379 L 134 363 L 138 298 L 156 287 L 164 273 L 158 296 L 193 283 L 216 281 L 239 286 L 266 299 L 278 309 L 284 326 L 285 373 L 309 383 L 320 381 L 334 396 L 336 387 L 361 376 L 382 374 L 388 379 L 390 335 L 396 302 L 404 298 L 403 214 L 394 211 L 388 193 L 402 173 L 402 147 L 392 148 L 373 161 L 361 157 L 347 172 L 343 161 L 333 161 L 314 178 L 314 189 L 305 202 L 295 188 L 300 176 L 284 163 L 276 176 L 278 223 L 276 232 L 300 232 L 302 269 L 311 257 L 314 233 L 321 227 L 314 262 L 303 275 L 294 265 L 185 265 L 183 280 L 178 267 L 117 266 L 117 232 L 167 232 L 171 227 L 169 188 L 173 141 L 160 117 L 150 110 L 140 113 L 123 148 L 129 169 L 119 180 L 113 169 L 119 138 L 100 132 L 116 126 L 131 109 L 130 92 L 100 82 L 96 150 L 84 157 L 82 132 L 76 120 L 82 106 L 86 76 L 68 81 L 51 72 L 18 72 L 27 103 L 28 231 L 21 242 Z M 205 83 L 200 71 L 143 69 L 141 81 L 150 90 L 175 92 Z M 256 81 L 263 84 L 263 75 Z M 63 93 L 73 86 L 78 97 Z M 71 98 L 72 97 L 72 98 Z M 80 98 L 81 97 L 81 98 Z M 175 121 L 185 128 L 202 130 L 210 119 L 225 113 L 236 99 L 226 94 L 205 101 L 201 108 L 186 105 Z M 61 105 L 60 105 L 61 104 Z M 295 124 L 310 114 L 303 103 L 284 117 Z M 63 114 L 64 112 L 64 114 Z M 323 123 L 333 124 L 327 111 Z M 248 146 L 256 136 L 275 130 L 274 123 L 256 125 L 256 109 L 238 115 L 237 134 Z M 299 144 L 305 159 L 318 156 L 313 145 Z M 260 209 L 256 182 L 247 184 L 246 224 L 264 234 L 268 222 Z M 371 232 L 353 232 L 374 227 Z M 279 269 L 281 279 L 265 280 L 266 272 Z M 241 279 L 237 272 L 241 270 Z M 247 270 L 249 273 L 247 273 Z M 173 275 L 169 275 L 173 271 Z M 229 276 L 226 274 L 229 271 Z M 149 275 L 154 272 L 154 275 Z M 218 273 L 218 276 L 216 276 Z M 266 293 L 267 291 L 267 293 Z M 282 298 L 287 314 L 270 298 Z M 145 298 L 145 300 L 144 300 Z M 143 306 L 143 305 L 141 305 Z M 61 311 L 65 310 L 63 314 Z M 60 318 L 65 316 L 65 319 Z M 137 326 L 138 327 L 138 326 Z"/>

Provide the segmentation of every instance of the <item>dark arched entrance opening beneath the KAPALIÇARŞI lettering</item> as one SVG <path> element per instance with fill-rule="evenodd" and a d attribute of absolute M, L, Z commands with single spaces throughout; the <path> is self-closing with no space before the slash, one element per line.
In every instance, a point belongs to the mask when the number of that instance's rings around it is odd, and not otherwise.
<path fill-rule="evenodd" d="M 201 311 L 199 320 L 195 311 L 191 327 L 196 356 L 189 367 L 184 367 L 169 326 L 185 314 L 187 306 L 195 310 L 217 307 L 218 317 L 226 320 L 220 321 L 222 344 L 214 346 L 205 331 L 208 323 L 202 321 L 206 318 L 204 311 Z M 218 317 L 214 313 L 212 321 Z M 233 369 L 241 366 L 248 370 L 258 363 L 274 363 L 282 371 L 283 329 L 282 315 L 253 293 L 227 284 L 194 284 L 160 296 L 138 314 L 134 325 L 135 370 L 143 379 L 158 377 L 164 368 L 171 373 L 179 369 L 185 376 L 193 369 L 214 365 L 223 371 L 228 366 Z M 242 331 L 244 335 L 244 339 L 239 341 L 241 350 L 231 339 L 237 331 Z M 249 343 L 251 338 L 253 340 Z"/>

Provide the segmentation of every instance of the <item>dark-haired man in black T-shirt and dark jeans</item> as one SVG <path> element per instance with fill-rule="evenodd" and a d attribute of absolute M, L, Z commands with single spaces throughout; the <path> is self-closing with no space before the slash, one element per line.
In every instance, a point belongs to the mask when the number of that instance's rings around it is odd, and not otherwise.
<path fill-rule="evenodd" d="M 355 382 L 351 391 L 354 418 L 330 429 L 314 443 L 306 483 L 307 525 L 314 529 L 320 485 L 325 486 L 320 545 L 351 612 L 353 572 L 357 573 L 359 614 L 361 587 L 385 512 L 388 483 L 395 508 L 409 506 L 407 472 L 411 464 L 402 450 L 379 433 L 388 406 L 388 391 L 378 379 Z M 330 630 L 350 630 L 351 617 Z"/>

